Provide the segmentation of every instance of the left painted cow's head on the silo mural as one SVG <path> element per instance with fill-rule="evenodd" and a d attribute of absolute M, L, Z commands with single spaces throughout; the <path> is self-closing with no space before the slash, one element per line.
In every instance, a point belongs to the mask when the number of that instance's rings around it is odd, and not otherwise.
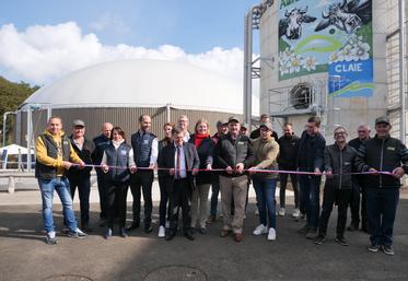
<path fill-rule="evenodd" d="M 284 19 L 279 21 L 279 37 L 285 36 L 290 40 L 296 40 L 302 37 L 302 24 L 312 23 L 316 17 L 307 15 L 305 9 L 293 8 L 290 12 L 285 11 Z"/>

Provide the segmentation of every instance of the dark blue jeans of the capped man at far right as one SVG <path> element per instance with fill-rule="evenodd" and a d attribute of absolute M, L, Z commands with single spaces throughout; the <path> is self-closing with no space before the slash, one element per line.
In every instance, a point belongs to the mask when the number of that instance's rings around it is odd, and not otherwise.
<path fill-rule="evenodd" d="M 371 243 L 375 245 L 393 245 L 393 230 L 399 200 L 399 189 L 368 187 L 366 199 Z"/>

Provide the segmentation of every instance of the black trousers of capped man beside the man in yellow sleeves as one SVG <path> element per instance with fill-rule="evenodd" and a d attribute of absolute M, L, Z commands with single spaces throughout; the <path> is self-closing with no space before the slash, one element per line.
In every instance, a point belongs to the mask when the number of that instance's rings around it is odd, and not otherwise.
<path fill-rule="evenodd" d="M 72 200 L 75 196 L 75 189 L 78 187 L 81 209 L 81 227 L 88 226 L 90 223 L 91 178 L 70 178 L 69 184 L 71 188 Z"/>

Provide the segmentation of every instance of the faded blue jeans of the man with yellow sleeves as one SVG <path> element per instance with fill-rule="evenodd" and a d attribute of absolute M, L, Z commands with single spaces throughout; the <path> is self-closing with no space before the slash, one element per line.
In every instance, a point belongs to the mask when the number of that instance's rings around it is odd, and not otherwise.
<path fill-rule="evenodd" d="M 45 231 L 47 233 L 54 232 L 53 198 L 54 190 L 56 190 L 62 203 L 63 220 L 69 230 L 75 232 L 77 221 L 72 208 L 72 198 L 69 190 L 68 179 L 66 177 L 57 177 L 53 179 L 38 178 L 38 186 L 42 192 Z"/>

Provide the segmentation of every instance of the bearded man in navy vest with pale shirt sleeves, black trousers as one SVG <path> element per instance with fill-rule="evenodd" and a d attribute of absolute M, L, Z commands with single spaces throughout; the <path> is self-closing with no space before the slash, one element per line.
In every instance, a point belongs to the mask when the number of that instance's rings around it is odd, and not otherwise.
<path fill-rule="evenodd" d="M 139 117 L 140 129 L 131 136 L 131 147 L 133 149 L 133 157 L 138 169 L 130 176 L 130 190 L 133 196 L 133 222 L 129 226 L 129 231 L 140 226 L 140 199 L 141 190 L 143 191 L 144 201 L 144 232 L 152 232 L 152 184 L 153 168 L 155 167 L 159 154 L 158 138 L 150 132 L 152 119 L 149 115 Z M 141 190 L 140 190 L 141 189 Z"/>

